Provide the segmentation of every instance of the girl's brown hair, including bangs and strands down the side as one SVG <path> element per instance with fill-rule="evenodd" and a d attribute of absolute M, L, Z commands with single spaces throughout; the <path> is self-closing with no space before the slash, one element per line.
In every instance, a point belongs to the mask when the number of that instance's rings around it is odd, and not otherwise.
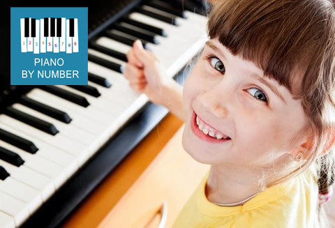
<path fill-rule="evenodd" d="M 335 128 L 335 9 L 330 0 L 225 0 L 216 1 L 207 22 L 209 38 L 234 55 L 253 61 L 301 100 L 307 134 L 314 142 L 306 160 L 267 187 L 293 178 L 313 163 L 318 188 L 327 193 L 334 182 L 334 154 L 329 139 Z M 295 86 L 295 88 L 293 87 Z M 333 137 L 332 137 L 333 136 Z M 301 136 L 299 136 L 301 137 Z M 322 155 L 322 151 L 328 153 Z M 327 218 L 319 204 L 319 222 Z"/>

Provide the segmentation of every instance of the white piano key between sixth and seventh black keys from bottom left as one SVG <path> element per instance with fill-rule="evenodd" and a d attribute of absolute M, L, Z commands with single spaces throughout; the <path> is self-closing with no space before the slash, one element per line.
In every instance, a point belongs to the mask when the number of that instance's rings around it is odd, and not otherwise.
<path fill-rule="evenodd" d="M 101 96 L 95 98 L 94 96 L 88 95 L 87 93 L 83 93 L 82 91 L 78 91 L 77 89 L 70 88 L 69 86 L 57 85 L 57 87 L 83 96 L 91 104 L 90 106 L 93 106 L 97 110 L 101 110 L 101 112 L 105 112 L 106 114 L 108 114 L 111 120 L 116 119 L 116 116 L 118 116 L 119 114 L 119 106 L 113 104 L 112 102 L 110 102 L 110 100 L 106 100 Z"/>

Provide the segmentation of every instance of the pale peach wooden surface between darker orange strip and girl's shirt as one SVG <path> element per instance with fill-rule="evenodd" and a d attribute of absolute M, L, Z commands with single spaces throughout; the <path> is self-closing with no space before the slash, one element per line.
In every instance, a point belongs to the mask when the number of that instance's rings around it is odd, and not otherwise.
<path fill-rule="evenodd" d="M 99 228 L 158 227 L 163 202 L 168 213 L 165 227 L 174 220 L 199 185 L 209 165 L 188 155 L 181 144 L 184 125 L 157 155 L 119 203 L 101 222 Z"/>

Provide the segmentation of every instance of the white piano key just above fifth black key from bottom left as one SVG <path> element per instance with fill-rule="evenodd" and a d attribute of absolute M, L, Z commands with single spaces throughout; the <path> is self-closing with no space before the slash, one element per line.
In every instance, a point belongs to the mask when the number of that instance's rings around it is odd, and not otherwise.
<path fill-rule="evenodd" d="M 73 124 L 73 126 L 76 126 L 77 128 L 81 128 L 82 130 L 91 132 L 93 134 L 101 133 L 103 129 L 105 129 L 105 126 L 103 126 L 102 123 L 94 122 L 93 120 L 88 119 L 85 116 L 82 116 L 80 112 L 75 112 L 71 109 L 68 109 L 66 105 L 62 105 L 57 101 L 45 98 L 45 94 L 47 96 L 47 93 L 43 90 L 33 89 L 29 93 L 27 93 L 27 97 L 42 102 L 45 105 L 57 107 L 57 109 L 60 109 L 62 111 L 66 110 L 66 112 L 72 118 L 71 124 Z"/>

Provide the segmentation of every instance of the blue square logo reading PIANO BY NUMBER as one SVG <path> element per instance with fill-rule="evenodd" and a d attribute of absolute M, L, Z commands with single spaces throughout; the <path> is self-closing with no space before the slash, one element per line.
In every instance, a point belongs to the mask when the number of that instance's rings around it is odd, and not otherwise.
<path fill-rule="evenodd" d="M 10 85 L 87 85 L 87 7 L 10 8 Z"/>

